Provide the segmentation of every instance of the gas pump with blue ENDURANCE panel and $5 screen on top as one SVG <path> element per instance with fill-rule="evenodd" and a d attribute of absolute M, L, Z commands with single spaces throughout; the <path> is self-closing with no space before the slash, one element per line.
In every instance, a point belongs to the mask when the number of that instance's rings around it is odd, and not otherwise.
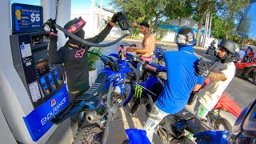
<path fill-rule="evenodd" d="M 64 70 L 48 62 L 49 33 L 42 30 L 42 6 L 14 3 L 11 12 L 11 54 L 26 94 L 8 95 L 15 105 L 3 112 L 14 116 L 6 119 L 18 142 L 45 143 L 58 127 L 50 119 L 69 104 Z"/>

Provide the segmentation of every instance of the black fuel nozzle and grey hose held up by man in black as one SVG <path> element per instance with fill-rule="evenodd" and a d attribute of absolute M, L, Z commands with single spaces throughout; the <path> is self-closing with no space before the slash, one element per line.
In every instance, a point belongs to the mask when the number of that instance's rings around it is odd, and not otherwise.
<path fill-rule="evenodd" d="M 85 45 L 95 46 L 95 47 L 106 47 L 106 46 L 112 46 L 115 43 L 121 41 L 123 38 L 126 38 L 127 36 L 130 36 L 131 34 L 133 34 L 133 30 L 130 28 L 130 25 L 128 23 L 128 19 L 126 18 L 126 16 L 124 14 L 121 14 L 117 19 L 118 19 L 118 25 L 121 27 L 121 29 L 122 30 L 129 30 L 129 34 L 123 34 L 122 37 L 116 39 L 114 42 L 109 42 L 109 43 L 104 43 L 104 44 L 98 44 L 98 43 L 94 43 L 94 42 L 89 42 L 89 41 L 86 41 L 85 39 L 79 38 L 78 36 L 70 33 L 66 29 L 64 29 L 62 26 L 58 26 L 58 24 L 56 24 L 56 23 L 54 23 L 54 26 L 58 30 L 61 30 L 64 34 L 70 36 L 71 38 L 74 38 L 78 42 L 82 42 Z M 44 23 L 43 26 L 48 26 L 48 25 L 46 23 Z M 47 30 L 47 29 L 44 28 L 44 30 Z"/>

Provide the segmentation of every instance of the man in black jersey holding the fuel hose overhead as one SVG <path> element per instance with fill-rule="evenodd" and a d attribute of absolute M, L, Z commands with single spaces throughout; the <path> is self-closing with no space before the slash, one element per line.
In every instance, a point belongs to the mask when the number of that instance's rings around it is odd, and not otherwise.
<path fill-rule="evenodd" d="M 86 41 L 99 43 L 102 42 L 106 36 L 110 33 L 110 30 L 117 22 L 117 17 L 120 13 L 114 14 L 110 22 L 107 24 L 104 30 L 93 38 L 87 38 Z M 70 104 L 74 103 L 74 99 L 78 95 L 82 94 L 89 88 L 89 71 L 88 71 L 88 55 L 87 52 L 91 46 L 86 46 L 81 42 L 69 37 L 69 40 L 64 46 L 58 50 L 57 30 L 54 27 L 55 20 L 48 20 L 47 24 L 50 26 L 50 46 L 49 46 L 49 62 L 52 64 L 62 64 L 66 70 L 67 88 L 69 91 Z M 70 22 L 67 22 L 64 28 L 70 33 L 84 38 L 85 31 L 82 30 L 86 22 L 81 18 L 74 18 Z M 68 37 L 66 35 L 66 37 Z M 75 114 L 71 117 L 73 122 L 78 121 L 78 115 Z"/>

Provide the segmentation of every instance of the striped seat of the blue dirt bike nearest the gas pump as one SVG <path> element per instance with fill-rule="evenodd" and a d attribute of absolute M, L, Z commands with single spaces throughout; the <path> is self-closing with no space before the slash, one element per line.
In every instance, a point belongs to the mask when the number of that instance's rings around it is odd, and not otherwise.
<path fill-rule="evenodd" d="M 86 101 L 90 98 L 94 98 L 98 95 L 101 95 L 106 79 L 106 73 L 98 74 L 98 77 L 94 82 L 94 85 L 90 86 L 90 88 L 86 90 L 86 92 L 84 92 L 83 94 L 79 95 L 78 98 L 75 98 L 75 101 Z"/>

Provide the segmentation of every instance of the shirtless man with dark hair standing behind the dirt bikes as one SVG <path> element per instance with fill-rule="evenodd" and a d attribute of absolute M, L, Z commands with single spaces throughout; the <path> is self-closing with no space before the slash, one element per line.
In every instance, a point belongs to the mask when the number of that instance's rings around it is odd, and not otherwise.
<path fill-rule="evenodd" d="M 142 61 L 144 62 L 151 62 L 153 60 L 152 54 L 155 48 L 155 39 L 153 34 L 149 34 L 149 24 L 147 22 L 141 22 L 139 24 L 139 29 L 141 30 L 141 33 L 144 35 L 143 41 L 142 41 L 142 49 L 133 49 L 128 48 L 127 51 L 130 52 L 136 52 L 138 54 L 142 54 Z M 142 71 L 142 65 L 143 63 L 138 62 L 138 75 L 140 75 L 140 72 Z"/>

